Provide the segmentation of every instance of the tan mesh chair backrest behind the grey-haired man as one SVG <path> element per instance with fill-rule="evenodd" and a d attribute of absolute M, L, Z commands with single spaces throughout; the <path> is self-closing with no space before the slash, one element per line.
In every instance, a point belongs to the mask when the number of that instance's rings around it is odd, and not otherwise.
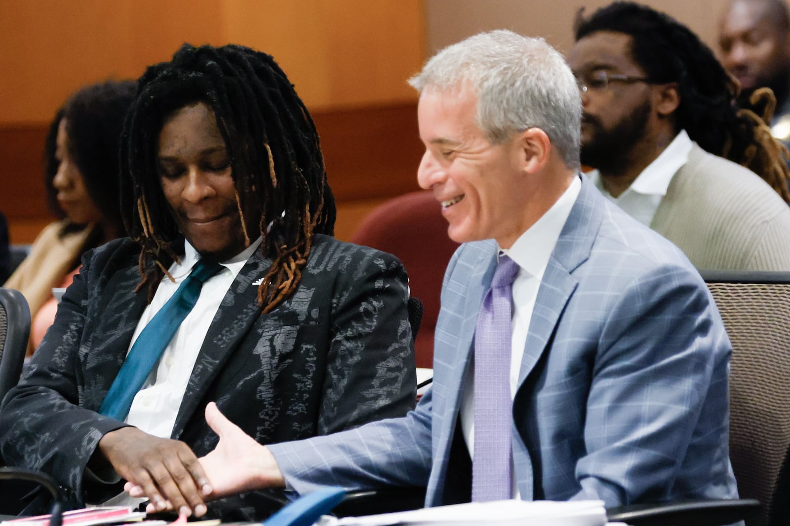
<path fill-rule="evenodd" d="M 790 272 L 707 271 L 702 277 L 732 342 L 732 468 L 740 497 L 762 502 L 747 524 L 763 526 L 776 513 L 774 494 L 790 446 Z"/>

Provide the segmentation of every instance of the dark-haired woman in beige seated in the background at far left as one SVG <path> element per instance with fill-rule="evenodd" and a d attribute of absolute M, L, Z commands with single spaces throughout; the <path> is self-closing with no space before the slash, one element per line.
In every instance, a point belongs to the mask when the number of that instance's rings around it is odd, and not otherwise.
<path fill-rule="evenodd" d="M 28 356 L 55 319 L 53 288 L 70 285 L 89 248 L 125 235 L 119 207 L 119 141 L 134 82 L 81 88 L 55 114 L 45 144 L 47 204 L 59 219 L 33 243 L 5 287 L 24 294 L 32 316 Z"/>

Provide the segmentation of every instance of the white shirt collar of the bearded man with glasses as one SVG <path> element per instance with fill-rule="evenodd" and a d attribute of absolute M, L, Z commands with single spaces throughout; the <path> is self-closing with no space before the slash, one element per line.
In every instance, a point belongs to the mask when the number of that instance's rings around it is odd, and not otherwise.
<path fill-rule="evenodd" d="M 598 170 L 585 173 L 596 188 L 600 190 L 613 203 L 617 204 L 628 215 L 641 222 L 642 225 L 650 226 L 653 217 L 656 215 L 658 205 L 667 195 L 667 188 L 672 182 L 672 177 L 680 170 L 680 167 L 689 160 L 691 142 L 686 130 L 682 129 L 675 136 L 675 139 L 664 148 L 656 159 L 653 159 L 645 170 L 638 175 L 634 182 L 626 188 L 626 191 L 617 197 L 604 188 L 604 181 L 600 178 Z"/>

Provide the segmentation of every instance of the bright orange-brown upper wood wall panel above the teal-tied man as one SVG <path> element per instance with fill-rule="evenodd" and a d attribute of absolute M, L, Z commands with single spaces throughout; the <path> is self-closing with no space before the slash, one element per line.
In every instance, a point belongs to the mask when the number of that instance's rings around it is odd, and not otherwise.
<path fill-rule="evenodd" d="M 276 58 L 311 109 L 413 101 L 419 0 L 4 0 L 0 125 L 48 121 L 83 84 L 136 78 L 184 42 Z"/>

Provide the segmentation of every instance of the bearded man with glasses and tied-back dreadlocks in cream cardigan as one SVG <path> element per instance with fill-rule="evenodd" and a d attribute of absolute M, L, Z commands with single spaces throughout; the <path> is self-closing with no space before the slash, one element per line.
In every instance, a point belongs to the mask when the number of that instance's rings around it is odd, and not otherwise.
<path fill-rule="evenodd" d="M 604 196 L 698 269 L 790 270 L 786 151 L 713 52 L 634 2 L 580 13 L 576 40 L 581 162 Z"/>

